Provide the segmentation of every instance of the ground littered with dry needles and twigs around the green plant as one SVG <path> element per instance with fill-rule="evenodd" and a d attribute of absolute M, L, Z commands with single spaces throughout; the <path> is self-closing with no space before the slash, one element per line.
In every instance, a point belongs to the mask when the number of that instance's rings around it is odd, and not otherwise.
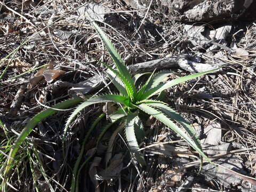
<path fill-rule="evenodd" d="M 106 121 L 82 146 L 89 127 L 102 113 L 103 105 L 96 105 L 83 110 L 73 123 L 65 155 L 62 133 L 70 110 L 38 123 L 18 150 L 9 191 L 71 191 L 73 167 L 83 147 L 76 191 L 256 191 L 256 23 L 228 23 L 231 30 L 225 46 L 235 44 L 242 54 L 225 47 L 212 50 L 210 44 L 195 49 L 201 44 L 185 30 L 191 23 L 172 21 L 154 7 L 147 12 L 118 0 L 94 3 L 99 7 L 94 7 L 97 14 L 91 17 L 127 65 L 184 54 L 201 64 L 225 63 L 217 72 L 174 86 L 164 95 L 165 102 L 195 127 L 205 153 L 221 166 L 204 163 L 199 171 L 195 151 L 154 118 L 147 119 L 147 135 L 140 143 L 146 167 L 131 159 L 122 131 L 113 140 L 117 125 L 97 141 Z M 6 0 L 0 5 L 0 151 L 8 154 L 5 149 L 30 118 L 79 97 L 70 89 L 103 75 L 106 68 L 98 60 L 109 65 L 112 61 L 83 14 L 84 3 Z M 219 27 L 211 24 L 211 29 Z M 180 67 L 169 70 L 173 73 L 167 81 L 191 72 Z M 110 142 L 114 147 L 106 162 Z M 0 155 L 1 176 L 7 157 Z"/>

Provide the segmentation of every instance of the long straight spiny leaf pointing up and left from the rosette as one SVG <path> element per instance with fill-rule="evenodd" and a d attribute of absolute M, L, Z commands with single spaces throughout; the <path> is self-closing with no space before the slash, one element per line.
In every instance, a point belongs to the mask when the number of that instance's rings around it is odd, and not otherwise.
<path fill-rule="evenodd" d="M 109 54 L 111 55 L 111 58 L 113 59 L 119 73 L 121 74 L 121 76 L 124 77 L 125 81 L 124 84 L 126 87 L 129 87 L 129 89 L 132 90 L 132 97 L 135 96 L 135 85 L 134 82 L 132 81 L 132 77 L 131 74 L 129 73 L 129 71 L 127 70 L 124 61 L 121 59 L 120 55 L 117 53 L 114 45 L 109 41 L 108 37 L 103 33 L 103 31 L 99 28 L 99 26 L 92 21 L 92 25 L 94 26 L 94 28 L 96 29 L 97 33 L 99 34 L 102 42 L 105 44 Z"/>

